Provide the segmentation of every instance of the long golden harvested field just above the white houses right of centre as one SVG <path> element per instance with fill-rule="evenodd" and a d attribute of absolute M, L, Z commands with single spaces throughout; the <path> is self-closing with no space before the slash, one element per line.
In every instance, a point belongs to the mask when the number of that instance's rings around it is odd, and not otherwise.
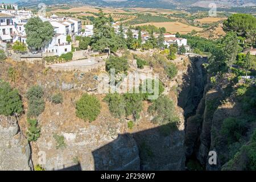
<path fill-rule="evenodd" d="M 187 24 L 180 23 L 180 22 L 155 22 L 155 23 L 153 22 L 153 23 L 135 24 L 134 26 L 143 26 L 148 24 L 152 24 L 156 27 L 164 27 L 166 28 L 166 31 L 170 33 L 179 32 L 180 34 L 188 34 L 192 30 L 195 30 L 195 31 L 203 30 L 203 28 L 189 26 Z"/>

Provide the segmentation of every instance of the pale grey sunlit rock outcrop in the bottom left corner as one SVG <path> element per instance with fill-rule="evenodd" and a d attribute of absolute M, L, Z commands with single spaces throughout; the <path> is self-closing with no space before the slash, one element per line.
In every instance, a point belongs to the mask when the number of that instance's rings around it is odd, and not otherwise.
<path fill-rule="evenodd" d="M 0 171 L 31 170 L 31 150 L 15 117 L 0 115 Z"/>

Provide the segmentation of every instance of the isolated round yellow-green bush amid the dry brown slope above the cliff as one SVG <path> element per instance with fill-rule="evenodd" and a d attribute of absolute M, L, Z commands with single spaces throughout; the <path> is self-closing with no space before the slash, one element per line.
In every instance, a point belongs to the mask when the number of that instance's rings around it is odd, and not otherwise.
<path fill-rule="evenodd" d="M 84 121 L 94 121 L 100 114 L 100 111 L 101 104 L 95 96 L 90 96 L 85 93 L 80 100 L 76 102 L 76 116 L 84 119 Z"/>

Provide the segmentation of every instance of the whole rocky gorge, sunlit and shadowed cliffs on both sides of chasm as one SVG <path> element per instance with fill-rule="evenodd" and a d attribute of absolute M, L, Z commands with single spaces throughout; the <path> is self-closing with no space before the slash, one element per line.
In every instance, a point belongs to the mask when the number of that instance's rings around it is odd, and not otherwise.
<path fill-rule="evenodd" d="M 178 130 L 163 135 L 165 126 L 150 122 L 152 116 L 147 113 L 146 102 L 141 119 L 130 130 L 129 118 L 114 118 L 102 101 L 104 96 L 98 96 L 100 116 L 92 123 L 84 122 L 75 116 L 75 101 L 84 89 L 71 88 L 63 91 L 63 104 L 46 102 L 46 109 L 38 118 L 41 135 L 36 142 L 28 144 L 24 137 L 26 117 L 18 122 L 12 118 L 10 122 L 1 116 L 0 169 L 31 170 L 42 152 L 46 154 L 46 163 L 42 165 L 46 170 L 185 170 L 189 159 L 198 160 L 208 170 L 221 169 L 228 160 L 225 155 L 217 158 L 217 165 L 210 166 L 208 152 L 225 154 L 227 148 L 216 138 L 223 119 L 240 115 L 236 109 L 240 106 L 219 107 L 227 97 L 224 90 L 229 84 L 223 81 L 211 86 L 204 63 L 207 57 L 184 60 L 176 78 L 168 83 L 169 88 L 167 85 L 166 95 L 174 101 L 180 119 Z M 51 79 L 41 78 L 36 82 L 51 92 L 51 84 L 47 84 Z M 65 147 L 56 147 L 55 134 L 63 135 Z"/>

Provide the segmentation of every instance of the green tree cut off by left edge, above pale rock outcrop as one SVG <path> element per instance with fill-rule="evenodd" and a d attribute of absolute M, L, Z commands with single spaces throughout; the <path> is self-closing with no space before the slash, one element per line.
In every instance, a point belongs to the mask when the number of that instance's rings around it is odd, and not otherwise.
<path fill-rule="evenodd" d="M 21 114 L 22 111 L 22 100 L 18 90 L 12 89 L 8 82 L 0 80 L 0 114 L 9 116 Z"/>

